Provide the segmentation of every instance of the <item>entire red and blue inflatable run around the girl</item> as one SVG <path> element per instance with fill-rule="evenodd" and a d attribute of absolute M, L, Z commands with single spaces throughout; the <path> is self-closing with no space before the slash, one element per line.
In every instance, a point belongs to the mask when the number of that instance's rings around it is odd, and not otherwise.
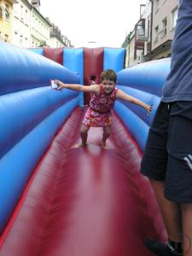
<path fill-rule="evenodd" d="M 125 49 L 0 43 L 0 256 L 153 256 L 145 239 L 165 241 L 139 168 L 170 60 L 124 63 Z M 51 90 L 50 79 L 88 86 L 107 68 L 152 113 L 116 101 L 108 148 L 100 147 L 102 128 L 90 129 L 86 148 L 73 148 L 89 95 Z"/>

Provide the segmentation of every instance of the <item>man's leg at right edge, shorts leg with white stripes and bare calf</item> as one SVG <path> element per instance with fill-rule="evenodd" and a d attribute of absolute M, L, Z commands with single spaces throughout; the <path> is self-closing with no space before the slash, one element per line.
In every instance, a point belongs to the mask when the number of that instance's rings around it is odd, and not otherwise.
<path fill-rule="evenodd" d="M 192 248 L 192 129 L 191 102 L 173 102 L 170 113 L 169 152 L 164 195 L 180 204 L 183 225 L 183 255 L 191 256 Z"/>

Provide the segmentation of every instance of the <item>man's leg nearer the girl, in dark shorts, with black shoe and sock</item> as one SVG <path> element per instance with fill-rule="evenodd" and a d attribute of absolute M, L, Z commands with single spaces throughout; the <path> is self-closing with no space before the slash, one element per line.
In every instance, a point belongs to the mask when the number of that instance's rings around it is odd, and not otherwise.
<path fill-rule="evenodd" d="M 180 247 L 177 251 L 181 252 L 182 241 L 180 209 L 176 203 L 166 200 L 164 195 L 164 181 L 166 179 L 169 158 L 167 152 L 169 115 L 169 104 L 160 102 L 154 122 L 148 133 L 148 140 L 141 165 L 141 172 L 149 178 L 154 189 L 168 233 L 169 243 L 167 246 L 160 241 L 154 241 L 152 239 L 147 239 L 146 241 L 148 249 L 160 256 L 175 255 L 172 252 L 172 248 L 177 247 Z"/>

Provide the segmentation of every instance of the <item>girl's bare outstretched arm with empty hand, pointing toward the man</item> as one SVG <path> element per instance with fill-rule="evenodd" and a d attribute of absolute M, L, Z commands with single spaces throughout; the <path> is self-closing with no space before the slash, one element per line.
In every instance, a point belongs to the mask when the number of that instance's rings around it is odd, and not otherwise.
<path fill-rule="evenodd" d="M 142 101 L 138 100 L 137 98 L 126 94 L 123 90 L 118 90 L 117 91 L 116 98 L 120 99 L 120 100 L 123 100 L 123 101 L 126 101 L 126 102 L 131 102 L 133 104 L 136 104 L 136 105 L 146 109 L 148 114 L 151 113 L 151 110 L 153 108 L 152 105 L 148 105 L 145 102 L 142 102 Z"/>

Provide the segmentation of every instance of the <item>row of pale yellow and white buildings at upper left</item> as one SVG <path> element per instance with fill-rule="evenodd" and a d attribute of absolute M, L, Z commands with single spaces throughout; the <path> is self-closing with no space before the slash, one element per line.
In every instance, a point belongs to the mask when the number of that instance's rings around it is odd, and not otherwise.
<path fill-rule="evenodd" d="M 0 0 L 0 40 L 20 47 L 73 47 L 40 11 L 40 0 Z"/>

